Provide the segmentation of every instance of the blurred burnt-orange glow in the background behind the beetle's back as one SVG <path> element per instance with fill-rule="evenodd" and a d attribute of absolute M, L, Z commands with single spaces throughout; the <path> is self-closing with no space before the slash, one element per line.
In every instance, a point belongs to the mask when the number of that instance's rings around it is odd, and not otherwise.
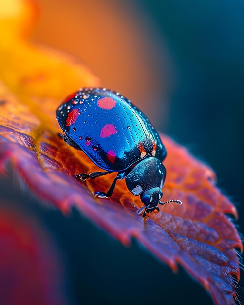
<path fill-rule="evenodd" d="M 167 117 L 169 58 L 153 33 L 150 18 L 138 10 L 136 2 L 35 3 L 39 18 L 32 39 L 81 58 L 102 86 L 127 96 L 156 125 Z"/>

